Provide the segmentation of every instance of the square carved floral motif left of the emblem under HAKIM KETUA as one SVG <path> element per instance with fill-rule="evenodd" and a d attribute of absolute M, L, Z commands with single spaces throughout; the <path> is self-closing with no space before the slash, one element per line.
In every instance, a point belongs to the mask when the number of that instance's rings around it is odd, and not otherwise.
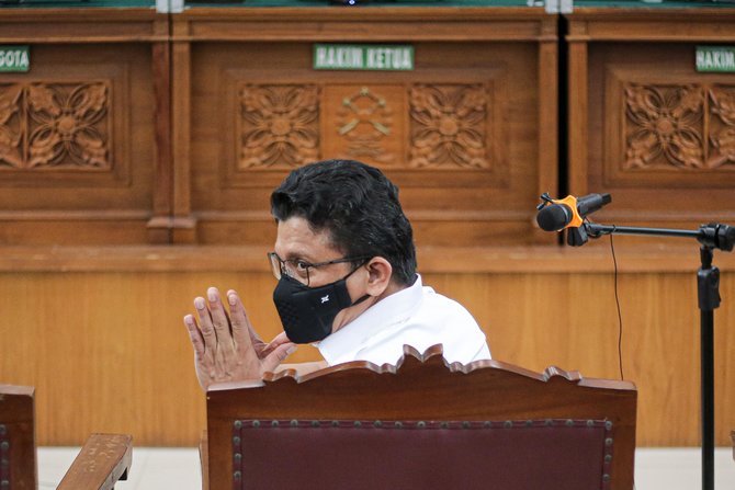
<path fill-rule="evenodd" d="M 316 86 L 245 86 L 240 90 L 240 169 L 294 168 L 319 153 Z"/>

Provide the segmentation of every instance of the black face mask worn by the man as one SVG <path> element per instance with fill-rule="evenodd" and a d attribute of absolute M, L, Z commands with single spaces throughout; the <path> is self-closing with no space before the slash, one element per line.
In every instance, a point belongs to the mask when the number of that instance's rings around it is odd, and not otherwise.
<path fill-rule="evenodd" d="M 347 278 L 354 271 L 339 281 L 318 287 L 308 287 L 285 274 L 281 276 L 273 292 L 273 303 L 290 341 L 306 344 L 324 340 L 331 333 L 337 314 L 370 297 L 364 295 L 351 301 Z"/>

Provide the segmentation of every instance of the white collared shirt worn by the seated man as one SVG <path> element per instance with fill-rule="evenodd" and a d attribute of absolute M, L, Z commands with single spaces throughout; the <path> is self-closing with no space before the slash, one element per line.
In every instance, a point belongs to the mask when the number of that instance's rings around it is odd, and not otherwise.
<path fill-rule="evenodd" d="M 404 344 L 419 353 L 434 344 L 444 358 L 467 364 L 490 358 L 490 350 L 475 319 L 462 305 L 421 284 L 400 289 L 316 344 L 327 364 L 370 361 L 395 364 Z"/>

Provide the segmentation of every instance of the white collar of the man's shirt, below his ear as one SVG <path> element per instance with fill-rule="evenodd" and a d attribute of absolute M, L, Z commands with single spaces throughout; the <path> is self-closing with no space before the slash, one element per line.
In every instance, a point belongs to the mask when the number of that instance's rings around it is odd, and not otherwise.
<path fill-rule="evenodd" d="M 327 337 L 316 346 L 330 366 L 351 361 L 352 356 L 378 331 L 405 320 L 422 299 L 421 276 L 409 287 L 394 293 L 368 308 L 362 315 Z"/>

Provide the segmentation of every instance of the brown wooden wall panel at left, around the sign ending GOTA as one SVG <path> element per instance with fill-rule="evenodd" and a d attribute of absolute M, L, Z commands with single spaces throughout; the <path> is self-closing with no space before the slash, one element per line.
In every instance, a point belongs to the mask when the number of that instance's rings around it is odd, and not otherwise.
<path fill-rule="evenodd" d="M 168 241 L 147 228 L 170 214 L 168 95 L 154 80 L 155 58 L 167 81 L 163 20 L 0 11 L 3 43 L 27 44 L 31 59 L 0 78 L 1 246 Z"/>

